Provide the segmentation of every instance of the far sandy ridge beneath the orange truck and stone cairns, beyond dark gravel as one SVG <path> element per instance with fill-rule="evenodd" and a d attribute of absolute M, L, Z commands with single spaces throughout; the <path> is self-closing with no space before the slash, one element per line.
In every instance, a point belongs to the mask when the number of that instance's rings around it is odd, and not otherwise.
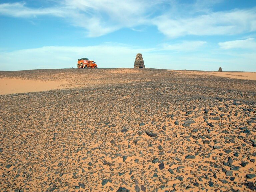
<path fill-rule="evenodd" d="M 48 69 L 27 71 L 0 71 L 0 95 L 27 93 L 65 89 L 75 87 L 90 87 L 99 84 L 130 83 L 161 78 L 179 77 L 180 75 L 214 75 L 243 80 L 256 80 L 256 72 L 213 72 L 189 70 L 161 69 Z M 162 76 L 162 77 L 161 77 Z M 194 77 L 193 77 L 194 78 Z M 202 77 L 207 78 L 207 77 Z"/>

